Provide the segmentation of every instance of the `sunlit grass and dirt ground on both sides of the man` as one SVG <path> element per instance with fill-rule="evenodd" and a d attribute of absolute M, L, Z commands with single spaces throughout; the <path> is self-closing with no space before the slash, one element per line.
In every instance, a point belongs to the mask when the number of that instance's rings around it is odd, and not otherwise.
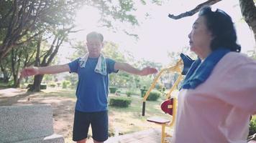
<path fill-rule="evenodd" d="M 62 134 L 65 137 L 65 142 L 73 142 L 73 114 L 76 104 L 76 91 L 74 89 L 47 87 L 42 92 L 27 93 L 24 92 L 25 89 L 20 89 L 21 92 L 17 92 L 16 90 L 19 89 L 15 89 L 14 93 L 10 93 L 12 97 L 0 97 L 0 106 L 51 104 L 55 133 Z M 13 89 L 11 88 L 10 91 L 13 91 Z M 115 96 L 114 94 L 109 94 L 109 98 Z M 126 97 L 126 94 L 121 94 L 121 96 Z M 165 97 L 161 97 L 156 102 L 146 102 L 145 117 L 142 117 L 142 97 L 132 95 L 129 98 L 132 99 L 132 103 L 127 108 L 109 107 L 109 136 L 111 137 L 116 134 L 128 134 L 150 128 L 160 129 L 159 125 L 147 122 L 147 117 L 158 116 L 164 117 L 165 119 L 170 118 L 168 114 L 164 114 L 160 110 L 160 103 L 163 102 Z M 256 115 L 252 119 L 256 119 Z M 172 132 L 172 130 L 168 128 L 168 132 Z M 91 129 L 88 134 L 91 137 Z"/>

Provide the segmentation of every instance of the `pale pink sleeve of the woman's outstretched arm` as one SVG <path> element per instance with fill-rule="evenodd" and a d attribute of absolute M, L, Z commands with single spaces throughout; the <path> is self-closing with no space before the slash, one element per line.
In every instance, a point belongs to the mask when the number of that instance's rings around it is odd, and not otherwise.
<path fill-rule="evenodd" d="M 226 73 L 222 73 L 221 81 L 215 91 L 218 98 L 234 107 L 243 109 L 250 114 L 256 113 L 256 61 L 236 64 Z"/>

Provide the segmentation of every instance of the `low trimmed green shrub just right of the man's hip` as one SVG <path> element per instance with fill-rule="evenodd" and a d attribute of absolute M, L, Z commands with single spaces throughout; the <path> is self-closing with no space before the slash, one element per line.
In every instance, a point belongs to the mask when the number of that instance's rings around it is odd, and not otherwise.
<path fill-rule="evenodd" d="M 132 100 L 127 97 L 113 97 L 109 101 L 109 105 L 113 107 L 129 107 Z"/>

